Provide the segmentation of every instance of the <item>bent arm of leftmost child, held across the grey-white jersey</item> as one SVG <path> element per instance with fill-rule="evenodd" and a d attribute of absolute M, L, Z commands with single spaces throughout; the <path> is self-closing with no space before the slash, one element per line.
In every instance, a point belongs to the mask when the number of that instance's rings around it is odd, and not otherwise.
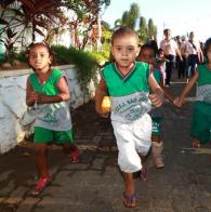
<path fill-rule="evenodd" d="M 60 103 L 63 101 L 68 101 L 70 98 L 69 89 L 65 77 L 62 77 L 56 88 L 60 93 L 57 95 L 45 95 L 42 93 L 38 94 L 38 104 L 48 104 L 48 103 Z"/>

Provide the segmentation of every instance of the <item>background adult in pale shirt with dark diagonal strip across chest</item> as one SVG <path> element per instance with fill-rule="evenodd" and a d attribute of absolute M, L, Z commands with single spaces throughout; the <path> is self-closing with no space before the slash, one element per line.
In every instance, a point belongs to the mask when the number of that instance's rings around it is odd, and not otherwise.
<path fill-rule="evenodd" d="M 189 40 L 184 43 L 187 56 L 187 81 L 194 76 L 198 64 L 203 63 L 203 54 L 199 41 L 195 40 L 195 34 L 189 34 Z"/>

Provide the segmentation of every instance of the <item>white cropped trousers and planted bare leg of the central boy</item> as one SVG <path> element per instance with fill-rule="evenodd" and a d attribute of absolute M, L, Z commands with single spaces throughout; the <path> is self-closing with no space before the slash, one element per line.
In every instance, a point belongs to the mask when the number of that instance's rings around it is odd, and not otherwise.
<path fill-rule="evenodd" d="M 123 203 L 126 207 L 135 207 L 133 173 L 142 169 L 137 151 L 146 155 L 150 148 L 151 120 L 146 115 L 133 123 L 111 123 L 119 150 L 118 164 L 124 173 Z"/>

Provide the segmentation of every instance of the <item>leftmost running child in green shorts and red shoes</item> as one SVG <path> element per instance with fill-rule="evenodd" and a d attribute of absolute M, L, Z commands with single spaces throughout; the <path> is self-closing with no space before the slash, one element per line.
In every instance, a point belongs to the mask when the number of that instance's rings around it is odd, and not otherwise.
<path fill-rule="evenodd" d="M 44 42 L 32 43 L 28 59 L 35 72 L 27 79 L 26 104 L 29 107 L 36 106 L 39 111 L 35 120 L 34 137 L 38 182 L 32 191 L 34 195 L 39 195 L 51 182 L 47 162 L 48 143 L 54 141 L 63 144 L 72 162 L 78 161 L 79 153 L 74 144 L 66 78 L 61 70 L 50 67 L 53 52 Z"/>

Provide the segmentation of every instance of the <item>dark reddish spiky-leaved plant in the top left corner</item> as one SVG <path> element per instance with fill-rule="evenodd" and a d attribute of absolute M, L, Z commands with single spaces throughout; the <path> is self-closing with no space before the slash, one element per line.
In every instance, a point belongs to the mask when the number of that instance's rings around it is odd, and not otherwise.
<path fill-rule="evenodd" d="M 0 30 L 0 35 L 10 28 L 13 32 L 16 31 L 17 38 L 23 37 L 28 29 L 31 30 L 32 41 L 35 41 L 36 32 L 44 37 L 40 27 L 48 29 L 51 25 L 65 23 L 61 8 L 63 5 L 63 0 L 2 1 L 0 2 L 2 6 L 0 22 L 4 24 L 4 27 Z"/>

